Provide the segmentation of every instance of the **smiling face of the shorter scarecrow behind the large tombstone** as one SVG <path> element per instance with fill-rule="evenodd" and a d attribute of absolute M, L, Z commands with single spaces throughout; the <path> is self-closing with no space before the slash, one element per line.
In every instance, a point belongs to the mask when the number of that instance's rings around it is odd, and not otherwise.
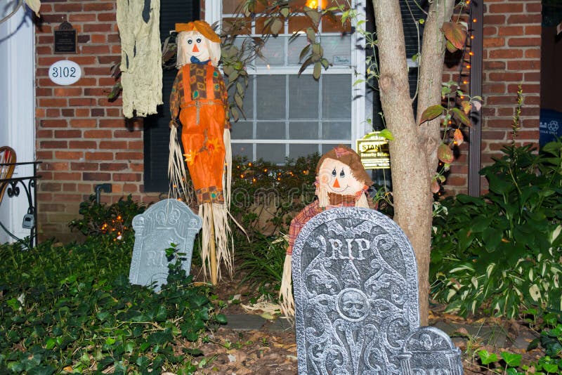
<path fill-rule="evenodd" d="M 328 192 L 339 195 L 355 195 L 363 190 L 364 184 L 353 177 L 348 165 L 335 159 L 325 159 L 318 170 L 320 186 Z"/>

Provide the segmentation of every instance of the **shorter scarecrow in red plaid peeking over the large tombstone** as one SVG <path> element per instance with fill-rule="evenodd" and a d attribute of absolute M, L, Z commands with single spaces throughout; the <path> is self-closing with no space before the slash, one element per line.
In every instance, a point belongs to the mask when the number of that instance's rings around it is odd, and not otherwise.
<path fill-rule="evenodd" d="M 316 166 L 316 192 L 318 200 L 308 204 L 292 221 L 289 227 L 289 246 L 281 289 L 281 310 L 287 317 L 294 316 L 292 294 L 292 252 L 296 237 L 304 225 L 318 213 L 335 207 L 369 208 L 365 193 L 372 180 L 363 168 L 361 158 L 351 148 L 339 145 L 320 157 Z"/>

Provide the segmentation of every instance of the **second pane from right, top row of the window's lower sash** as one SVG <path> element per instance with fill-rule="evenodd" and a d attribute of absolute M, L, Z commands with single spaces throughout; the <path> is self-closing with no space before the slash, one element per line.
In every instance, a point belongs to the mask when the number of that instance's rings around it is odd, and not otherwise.
<path fill-rule="evenodd" d="M 310 74 L 289 76 L 289 119 L 318 119 L 318 82 Z"/>

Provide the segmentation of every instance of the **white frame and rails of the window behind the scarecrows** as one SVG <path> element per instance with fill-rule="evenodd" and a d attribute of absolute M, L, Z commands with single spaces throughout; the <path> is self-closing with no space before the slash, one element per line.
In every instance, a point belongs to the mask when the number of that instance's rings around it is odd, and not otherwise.
<path fill-rule="evenodd" d="M 365 9 L 365 0 L 354 0 L 355 7 L 358 10 Z M 221 25 L 222 18 L 222 1 L 221 0 L 207 0 L 205 1 L 205 21 L 209 22 L 210 25 L 217 22 L 219 27 Z M 358 19 L 353 20 L 353 22 L 359 22 L 360 20 L 365 20 L 365 13 L 361 11 L 358 12 Z M 355 25 L 353 25 L 355 26 Z M 287 27 L 287 25 L 285 25 Z M 330 34 L 327 34 L 330 35 Z M 334 144 L 334 143 L 348 143 L 351 141 L 351 147 L 355 149 L 356 140 L 362 138 L 366 133 L 372 131 L 370 124 L 367 123 L 367 118 L 371 115 L 367 114 L 366 105 L 366 87 L 365 87 L 365 40 L 360 37 L 358 32 L 351 34 L 351 65 L 350 66 L 331 66 L 327 70 L 322 70 L 322 74 L 349 74 L 351 79 L 351 97 L 354 98 L 351 102 L 351 140 L 320 140 L 320 139 L 309 139 L 309 140 L 271 140 L 271 139 L 233 139 L 232 143 L 251 143 L 251 144 L 309 144 L 309 143 L 320 143 L 320 144 Z M 266 67 L 266 66 L 256 66 L 251 71 L 251 75 L 261 75 L 261 74 L 271 74 L 271 75 L 286 75 L 286 74 L 296 74 L 298 69 L 294 66 L 290 67 Z M 307 67 L 301 74 L 312 74 L 313 67 Z M 355 84 L 356 81 L 360 80 L 360 83 Z M 254 94 L 255 94 L 254 86 Z M 320 91 L 321 92 L 321 91 Z M 254 101 L 255 103 L 255 101 Z M 255 108 L 254 108 L 255 110 Z M 290 155 L 289 155 L 290 156 Z"/>

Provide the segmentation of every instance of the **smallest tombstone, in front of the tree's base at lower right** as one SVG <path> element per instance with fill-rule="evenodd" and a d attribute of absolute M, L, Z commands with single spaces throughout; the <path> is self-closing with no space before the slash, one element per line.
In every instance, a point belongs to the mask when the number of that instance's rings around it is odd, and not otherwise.
<path fill-rule="evenodd" d="M 445 332 L 420 327 L 407 336 L 400 366 L 405 375 L 460 375 L 461 351 Z"/>

